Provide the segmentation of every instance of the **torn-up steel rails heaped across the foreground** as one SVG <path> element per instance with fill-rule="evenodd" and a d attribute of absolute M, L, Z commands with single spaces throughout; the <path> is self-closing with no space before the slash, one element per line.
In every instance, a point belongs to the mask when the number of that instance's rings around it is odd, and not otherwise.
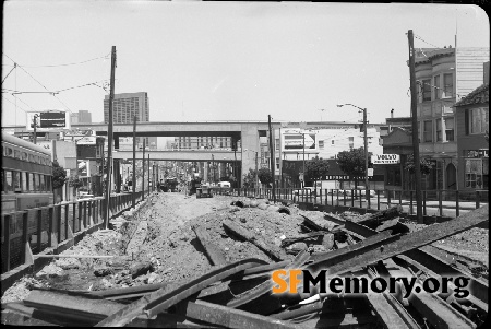
<path fill-rule="evenodd" d="M 488 221 L 488 205 L 414 233 L 326 220 L 337 224 L 332 232 L 348 235 L 346 246 L 327 252 L 299 252 L 291 262 L 244 259 L 189 282 L 105 292 L 33 291 L 23 303 L 2 305 L 2 322 L 80 325 L 83 318 L 82 324 L 97 327 L 477 328 L 487 318 L 488 280 L 446 262 L 426 246 Z M 383 220 L 379 224 L 383 225 Z M 385 225 L 396 227 L 396 223 Z M 356 278 L 376 289 L 384 281 L 392 282 L 391 278 L 414 278 L 412 291 L 429 291 L 443 281 L 448 289 L 410 294 L 404 280 L 393 280 L 394 293 L 372 289 L 349 294 L 347 287 L 345 293 L 333 293 L 322 291 L 321 284 L 306 292 L 302 283 L 295 285 L 289 278 L 285 282 L 297 292 L 275 294 L 271 274 L 279 269 L 324 270 L 327 278 L 349 278 L 351 283 Z M 468 282 L 467 296 L 457 294 L 464 289 L 459 282 L 445 280 L 451 277 Z"/>

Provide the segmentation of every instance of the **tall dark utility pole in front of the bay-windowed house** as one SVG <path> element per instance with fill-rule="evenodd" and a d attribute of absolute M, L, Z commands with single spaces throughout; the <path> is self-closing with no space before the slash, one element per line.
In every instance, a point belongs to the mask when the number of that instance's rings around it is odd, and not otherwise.
<path fill-rule="evenodd" d="M 416 94 L 416 72 L 415 72 L 415 47 L 412 38 L 412 30 L 407 33 L 409 42 L 409 78 L 411 87 L 411 122 L 412 122 L 412 153 L 415 161 L 416 176 L 416 219 L 418 224 L 423 223 L 422 218 L 422 197 L 421 197 L 421 167 L 419 160 L 419 133 L 418 133 L 418 111 L 417 111 L 417 94 Z"/>

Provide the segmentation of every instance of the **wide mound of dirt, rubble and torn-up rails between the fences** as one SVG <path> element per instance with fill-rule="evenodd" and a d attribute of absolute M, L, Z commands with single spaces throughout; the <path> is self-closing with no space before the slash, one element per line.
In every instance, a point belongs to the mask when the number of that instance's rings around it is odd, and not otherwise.
<path fill-rule="evenodd" d="M 112 221 L 115 231 L 99 231 L 65 251 L 111 258 L 60 258 L 24 278 L 12 287 L 19 298 L 12 293 L 2 297 L 2 322 L 475 328 L 487 317 L 487 265 L 477 269 L 464 258 L 446 261 L 448 255 L 436 248 L 441 240 L 470 240 L 469 234 L 486 240 L 488 231 L 475 226 L 488 220 L 487 207 L 423 227 L 407 221 L 398 207 L 360 215 L 302 211 L 246 197 L 155 193 L 145 202 Z M 271 273 L 277 269 L 327 269 L 332 275 L 369 280 L 383 273 L 416 275 L 422 284 L 428 275 L 444 274 L 433 269 L 436 262 L 439 270 L 470 278 L 469 298 L 272 294 Z"/>

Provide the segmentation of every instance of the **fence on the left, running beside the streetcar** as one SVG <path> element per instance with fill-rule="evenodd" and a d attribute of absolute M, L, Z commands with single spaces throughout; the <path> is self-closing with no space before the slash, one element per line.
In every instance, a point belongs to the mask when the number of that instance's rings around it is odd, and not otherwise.
<path fill-rule="evenodd" d="M 147 192 L 136 192 L 135 200 L 143 200 Z M 130 208 L 132 202 L 132 193 L 111 196 L 109 218 Z M 33 255 L 39 254 L 103 223 L 105 218 L 106 199 L 103 197 L 2 214 L 1 273 L 25 263 L 26 248 Z"/>

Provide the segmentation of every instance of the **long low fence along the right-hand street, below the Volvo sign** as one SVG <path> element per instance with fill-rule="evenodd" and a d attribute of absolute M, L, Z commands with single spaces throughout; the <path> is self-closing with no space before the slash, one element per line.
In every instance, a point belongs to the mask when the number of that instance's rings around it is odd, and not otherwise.
<path fill-rule="evenodd" d="M 230 188 L 213 189 L 217 195 L 229 195 L 249 198 L 265 198 L 273 200 L 272 188 Z M 372 190 L 369 198 L 364 190 L 360 189 L 320 189 L 314 192 L 311 189 L 277 188 L 275 189 L 277 201 L 290 201 L 294 203 L 307 203 L 315 205 L 344 207 L 352 209 L 367 209 L 367 202 L 372 210 L 382 210 L 400 204 L 403 211 L 409 215 L 416 214 L 415 190 Z M 429 216 L 457 218 L 488 204 L 489 190 L 423 190 L 422 212 Z"/>

